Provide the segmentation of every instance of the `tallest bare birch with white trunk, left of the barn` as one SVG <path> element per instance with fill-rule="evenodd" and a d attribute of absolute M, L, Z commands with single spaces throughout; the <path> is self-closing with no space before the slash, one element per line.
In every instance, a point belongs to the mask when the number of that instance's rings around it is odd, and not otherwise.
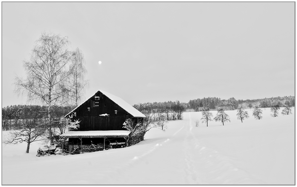
<path fill-rule="evenodd" d="M 67 37 L 54 33 L 42 33 L 36 41 L 30 60 L 23 62 L 27 77 L 15 78 L 17 93 L 26 94 L 30 101 L 41 101 L 47 105 L 46 128 L 50 137 L 52 137 L 50 110 L 53 105 L 65 103 L 62 100 L 63 95 L 66 94 L 63 85 L 67 78 L 65 71 L 75 54 L 68 50 L 69 44 Z"/>

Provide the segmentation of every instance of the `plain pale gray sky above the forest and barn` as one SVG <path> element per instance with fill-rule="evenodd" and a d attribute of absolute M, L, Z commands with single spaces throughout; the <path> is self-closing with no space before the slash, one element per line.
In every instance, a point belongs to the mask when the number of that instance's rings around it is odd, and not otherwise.
<path fill-rule="evenodd" d="M 295 2 L 2 2 L 2 107 L 41 32 L 84 54 L 85 98 L 131 105 L 295 94 Z M 98 61 L 102 61 L 99 65 Z M 27 103 L 28 104 L 28 103 Z M 30 104 L 30 103 L 29 103 Z"/>

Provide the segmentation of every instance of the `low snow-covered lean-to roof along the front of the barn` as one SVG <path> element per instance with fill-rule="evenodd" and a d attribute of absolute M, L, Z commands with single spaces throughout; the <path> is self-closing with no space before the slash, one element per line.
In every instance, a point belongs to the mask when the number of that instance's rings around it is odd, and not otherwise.
<path fill-rule="evenodd" d="M 68 131 L 61 134 L 61 137 L 128 137 L 130 131 Z"/>

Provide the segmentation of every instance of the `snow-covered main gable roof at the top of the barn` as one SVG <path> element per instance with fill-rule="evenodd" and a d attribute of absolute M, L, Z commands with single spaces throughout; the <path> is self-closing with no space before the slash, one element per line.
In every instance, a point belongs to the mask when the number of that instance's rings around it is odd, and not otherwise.
<path fill-rule="evenodd" d="M 141 112 L 139 112 L 136 108 L 134 108 L 133 106 L 131 106 L 129 103 L 127 103 L 126 101 L 122 100 L 121 98 L 112 95 L 108 92 L 105 92 L 103 90 L 99 90 L 99 92 L 101 92 L 103 95 L 105 95 L 106 97 L 110 98 L 113 102 L 115 102 L 117 105 L 119 105 L 122 109 L 124 109 L 125 111 L 127 111 L 129 114 L 131 114 L 133 117 L 135 118 L 145 118 L 145 115 L 142 114 Z M 97 92 L 96 92 L 97 93 Z M 86 101 L 88 101 L 90 98 L 92 98 L 96 93 L 94 93 L 91 97 L 89 97 Z M 81 106 L 83 103 L 85 103 L 86 101 L 82 102 L 79 106 Z M 79 106 L 77 106 L 75 109 L 73 109 L 71 112 L 69 112 L 68 114 L 65 115 L 65 118 L 67 117 L 67 115 L 71 114 L 73 111 L 75 111 Z"/>

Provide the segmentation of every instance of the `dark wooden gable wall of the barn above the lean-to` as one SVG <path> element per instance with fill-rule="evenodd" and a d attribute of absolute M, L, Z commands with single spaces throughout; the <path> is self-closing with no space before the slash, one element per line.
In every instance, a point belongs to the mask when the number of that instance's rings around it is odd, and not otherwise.
<path fill-rule="evenodd" d="M 95 96 L 100 97 L 100 100 L 96 101 L 98 102 L 96 105 L 99 105 L 97 107 L 93 103 Z M 90 111 L 88 111 L 88 108 L 90 108 Z M 115 114 L 115 110 L 117 110 L 117 114 Z M 81 121 L 80 128 L 77 131 L 125 130 L 122 128 L 123 123 L 127 118 L 133 117 L 99 91 L 73 112 L 76 112 L 76 117 L 73 117 L 73 119 Z M 105 113 L 109 114 L 109 116 L 99 116 Z"/>

